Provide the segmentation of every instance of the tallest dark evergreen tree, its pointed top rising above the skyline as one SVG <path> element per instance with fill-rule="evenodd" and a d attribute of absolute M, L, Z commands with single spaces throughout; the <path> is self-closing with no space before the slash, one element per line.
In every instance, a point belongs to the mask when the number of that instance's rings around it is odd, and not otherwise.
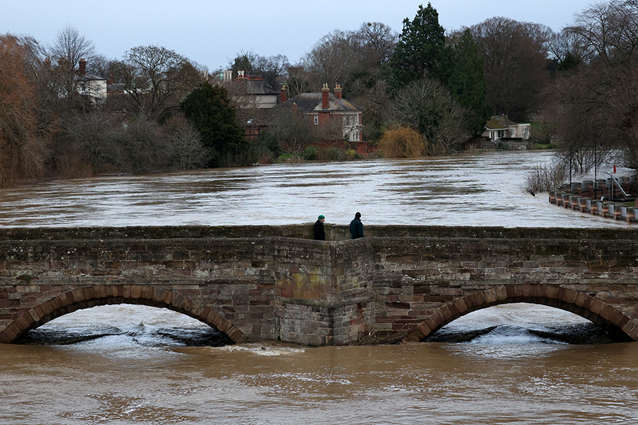
<path fill-rule="evenodd" d="M 390 60 L 393 70 L 391 91 L 435 71 L 444 44 L 445 31 L 439 24 L 439 13 L 430 3 L 425 8 L 420 5 L 412 21 L 403 20 L 403 32 Z"/>

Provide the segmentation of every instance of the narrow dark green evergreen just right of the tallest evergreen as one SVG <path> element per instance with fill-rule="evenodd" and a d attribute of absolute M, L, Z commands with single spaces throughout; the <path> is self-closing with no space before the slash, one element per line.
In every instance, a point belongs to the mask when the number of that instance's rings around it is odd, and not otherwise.
<path fill-rule="evenodd" d="M 449 71 L 441 70 L 440 79 L 459 104 L 470 111 L 468 130 L 481 132 L 492 111 L 486 99 L 483 58 L 478 55 L 476 42 L 469 29 L 461 33 L 451 56 L 451 66 L 447 67 Z"/>

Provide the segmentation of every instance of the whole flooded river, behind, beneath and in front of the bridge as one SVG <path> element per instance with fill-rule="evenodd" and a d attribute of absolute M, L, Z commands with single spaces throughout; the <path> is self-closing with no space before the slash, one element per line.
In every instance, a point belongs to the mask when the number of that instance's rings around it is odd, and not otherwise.
<path fill-rule="evenodd" d="M 547 152 L 294 164 L 0 191 L 0 227 L 364 224 L 623 227 L 520 187 Z M 418 344 L 213 346 L 169 310 L 67 314 L 0 345 L 0 424 L 635 424 L 638 344 L 500 305 Z M 462 341 L 462 342 L 457 342 Z M 578 343 L 578 344 L 576 344 Z"/>

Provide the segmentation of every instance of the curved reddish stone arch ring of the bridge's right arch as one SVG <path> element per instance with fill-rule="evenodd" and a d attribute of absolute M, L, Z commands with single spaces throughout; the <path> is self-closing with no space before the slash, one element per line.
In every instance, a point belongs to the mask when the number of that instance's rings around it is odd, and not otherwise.
<path fill-rule="evenodd" d="M 465 314 L 515 302 L 547 305 L 566 310 L 598 324 L 622 341 L 635 341 L 638 329 L 620 310 L 586 293 L 548 285 L 500 285 L 478 290 L 459 300 L 442 305 L 426 317 L 404 341 L 422 341 L 446 324 Z"/>

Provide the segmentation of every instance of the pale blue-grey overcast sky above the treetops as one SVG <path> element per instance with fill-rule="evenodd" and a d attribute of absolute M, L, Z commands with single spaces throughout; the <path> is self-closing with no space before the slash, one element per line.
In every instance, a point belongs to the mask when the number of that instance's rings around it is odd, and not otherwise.
<path fill-rule="evenodd" d="M 434 0 L 446 30 L 503 16 L 554 31 L 573 23 L 588 0 Z M 285 55 L 298 62 L 332 30 L 381 22 L 401 33 L 419 4 L 405 0 L 2 0 L 0 33 L 32 35 L 50 45 L 67 24 L 94 42 L 96 52 L 121 59 L 131 47 L 159 45 L 216 70 L 239 52 Z"/>

